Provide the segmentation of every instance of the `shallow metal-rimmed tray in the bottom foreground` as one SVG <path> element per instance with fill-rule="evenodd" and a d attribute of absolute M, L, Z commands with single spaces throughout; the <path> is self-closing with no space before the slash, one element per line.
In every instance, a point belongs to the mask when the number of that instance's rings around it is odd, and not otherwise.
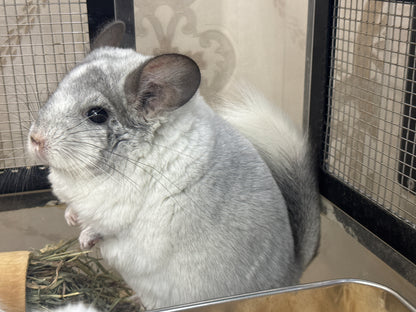
<path fill-rule="evenodd" d="M 393 290 L 352 279 L 317 282 L 162 309 L 176 312 L 416 312 Z"/>

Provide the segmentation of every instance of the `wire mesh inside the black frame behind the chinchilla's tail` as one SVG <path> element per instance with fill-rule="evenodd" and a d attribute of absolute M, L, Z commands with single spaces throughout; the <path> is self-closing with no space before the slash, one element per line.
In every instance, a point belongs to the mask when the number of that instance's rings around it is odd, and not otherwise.
<path fill-rule="evenodd" d="M 411 170 L 409 185 L 399 181 L 414 4 L 339 0 L 334 10 L 324 169 L 416 226 Z"/>

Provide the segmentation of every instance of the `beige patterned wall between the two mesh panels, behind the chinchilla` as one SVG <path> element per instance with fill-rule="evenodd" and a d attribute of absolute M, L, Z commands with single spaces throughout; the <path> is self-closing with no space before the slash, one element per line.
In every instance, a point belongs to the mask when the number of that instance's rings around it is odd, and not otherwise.
<path fill-rule="evenodd" d="M 135 0 L 136 47 L 193 57 L 208 100 L 248 82 L 300 126 L 307 7 L 306 0 Z"/>

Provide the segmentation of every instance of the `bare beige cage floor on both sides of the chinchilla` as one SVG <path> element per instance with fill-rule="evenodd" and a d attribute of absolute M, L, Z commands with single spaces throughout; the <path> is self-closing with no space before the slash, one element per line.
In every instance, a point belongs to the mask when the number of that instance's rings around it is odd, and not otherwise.
<path fill-rule="evenodd" d="M 76 228 L 66 225 L 61 206 L 0 212 L 0 252 L 42 248 L 48 243 L 74 237 Z M 342 226 L 322 216 L 322 239 L 318 256 L 301 283 L 359 278 L 383 284 L 416 305 L 416 287 L 347 234 Z"/>

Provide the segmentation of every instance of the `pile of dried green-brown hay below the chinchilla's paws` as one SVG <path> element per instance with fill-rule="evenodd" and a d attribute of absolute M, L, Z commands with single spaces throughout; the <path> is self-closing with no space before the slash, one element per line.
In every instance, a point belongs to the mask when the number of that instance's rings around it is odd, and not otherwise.
<path fill-rule="evenodd" d="M 101 311 L 143 311 L 129 300 L 133 291 L 100 260 L 90 251 L 80 251 L 77 239 L 33 251 L 26 278 L 27 306 L 52 309 L 82 301 Z"/>

